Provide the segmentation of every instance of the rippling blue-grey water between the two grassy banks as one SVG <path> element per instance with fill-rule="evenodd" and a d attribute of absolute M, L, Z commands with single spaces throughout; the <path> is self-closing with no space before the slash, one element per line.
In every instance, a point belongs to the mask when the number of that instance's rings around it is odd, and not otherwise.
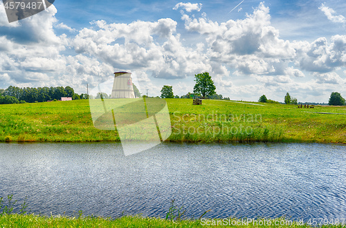
<path fill-rule="evenodd" d="M 195 218 L 346 218 L 343 145 L 0 144 L 0 160 L 0 196 L 33 213 L 162 218 L 175 199 Z"/>

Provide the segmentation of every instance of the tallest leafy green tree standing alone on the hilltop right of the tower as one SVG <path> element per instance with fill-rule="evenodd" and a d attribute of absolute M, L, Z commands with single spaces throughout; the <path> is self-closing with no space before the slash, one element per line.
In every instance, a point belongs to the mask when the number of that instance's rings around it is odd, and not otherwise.
<path fill-rule="evenodd" d="M 194 85 L 194 93 L 199 93 L 203 97 L 215 94 L 216 87 L 208 72 L 194 75 L 194 81 L 196 82 Z"/>

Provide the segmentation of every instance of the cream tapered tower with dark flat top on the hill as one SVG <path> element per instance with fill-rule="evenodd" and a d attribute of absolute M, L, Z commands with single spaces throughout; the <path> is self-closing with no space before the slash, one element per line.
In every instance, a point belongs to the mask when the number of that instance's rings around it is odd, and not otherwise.
<path fill-rule="evenodd" d="M 111 98 L 135 98 L 131 73 L 114 73 L 114 82 L 113 89 L 111 91 Z"/>

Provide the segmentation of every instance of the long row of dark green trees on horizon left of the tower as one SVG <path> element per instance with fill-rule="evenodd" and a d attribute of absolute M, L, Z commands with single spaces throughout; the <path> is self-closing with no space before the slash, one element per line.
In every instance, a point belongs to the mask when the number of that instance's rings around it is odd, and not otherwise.
<path fill-rule="evenodd" d="M 72 99 L 88 99 L 88 95 L 75 93 L 71 86 L 19 88 L 9 86 L 0 89 L 0 104 L 35 103 L 59 100 L 62 97 L 72 97 Z"/>

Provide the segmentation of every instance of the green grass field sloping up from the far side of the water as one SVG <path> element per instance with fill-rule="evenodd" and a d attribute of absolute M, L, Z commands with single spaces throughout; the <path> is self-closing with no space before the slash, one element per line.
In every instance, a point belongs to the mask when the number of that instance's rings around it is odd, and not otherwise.
<path fill-rule="evenodd" d="M 346 106 L 240 104 L 166 99 L 172 142 L 323 142 L 346 143 Z M 250 102 L 243 102 L 250 103 Z M 262 103 L 255 103 L 262 104 Z M 0 105 L 1 142 L 118 141 L 117 131 L 95 129 L 88 100 Z"/>

